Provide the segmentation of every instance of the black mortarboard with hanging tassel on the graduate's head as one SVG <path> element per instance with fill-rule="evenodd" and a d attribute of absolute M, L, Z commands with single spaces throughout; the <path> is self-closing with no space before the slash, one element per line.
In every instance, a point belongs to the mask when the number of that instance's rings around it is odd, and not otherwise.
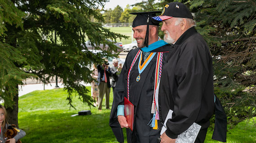
<path fill-rule="evenodd" d="M 149 39 L 149 25 L 159 25 L 158 21 L 152 21 L 152 17 L 156 16 L 156 13 L 161 13 L 160 11 L 151 11 L 151 12 L 141 12 L 141 13 L 130 13 L 137 15 L 133 22 L 132 27 L 137 27 L 139 25 L 147 25 L 146 37 L 144 45 L 148 47 L 148 39 Z"/>

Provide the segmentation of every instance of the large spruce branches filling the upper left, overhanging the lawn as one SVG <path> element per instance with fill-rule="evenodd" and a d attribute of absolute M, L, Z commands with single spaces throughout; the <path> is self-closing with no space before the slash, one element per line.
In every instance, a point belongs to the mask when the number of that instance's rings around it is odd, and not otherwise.
<path fill-rule="evenodd" d="M 77 93 L 84 103 L 92 105 L 88 90 L 79 82 L 93 80 L 89 67 L 92 63 L 101 63 L 103 54 L 116 56 L 111 53 L 116 52 L 117 47 L 106 39 L 115 41 L 124 38 L 102 27 L 104 19 L 98 6 L 106 1 L 1 0 L 0 20 L 4 24 L 0 27 L 0 46 L 6 47 L 1 47 L 1 50 L 6 50 L 7 54 L 1 51 L 0 63 L 7 64 L 2 60 L 4 56 L 12 67 L 2 71 L 4 65 L 1 65 L 0 96 L 4 98 L 7 91 L 14 89 L 16 93 L 12 94 L 18 94 L 17 85 L 22 84 L 30 73 L 30 76 L 35 75 L 36 79 L 45 83 L 52 77 L 60 77 L 69 93 L 67 100 L 70 105 L 71 93 Z M 91 17 L 100 23 L 92 22 Z M 110 48 L 95 55 L 85 46 L 86 39 L 96 45 L 108 44 Z M 11 80 L 6 77 L 18 81 L 11 82 L 12 87 L 7 89 L 5 83 L 10 84 Z"/>

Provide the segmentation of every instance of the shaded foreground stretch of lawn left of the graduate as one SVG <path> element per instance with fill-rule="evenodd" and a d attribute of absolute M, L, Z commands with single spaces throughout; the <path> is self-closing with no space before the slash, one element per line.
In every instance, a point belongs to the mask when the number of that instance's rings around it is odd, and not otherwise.
<path fill-rule="evenodd" d="M 75 117 L 77 112 L 63 110 L 22 113 L 22 143 L 118 143 L 108 124 L 110 111 L 102 111 Z"/>

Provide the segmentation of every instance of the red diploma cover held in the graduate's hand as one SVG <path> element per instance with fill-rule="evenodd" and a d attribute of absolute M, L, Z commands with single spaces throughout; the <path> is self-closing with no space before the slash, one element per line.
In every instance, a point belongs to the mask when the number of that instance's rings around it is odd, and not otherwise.
<path fill-rule="evenodd" d="M 128 123 L 128 127 L 132 130 L 133 129 L 133 114 L 134 113 L 134 105 L 124 97 L 124 116 Z"/>

